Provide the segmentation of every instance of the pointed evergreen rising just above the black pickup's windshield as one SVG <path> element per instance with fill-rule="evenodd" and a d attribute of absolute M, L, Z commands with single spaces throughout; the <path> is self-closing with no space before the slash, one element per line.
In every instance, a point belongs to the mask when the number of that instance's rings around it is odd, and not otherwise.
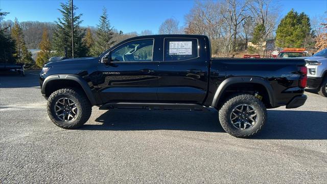
<path fill-rule="evenodd" d="M 107 9 L 103 8 L 102 16 L 100 17 L 100 24 L 97 25 L 97 39 L 95 41 L 96 56 L 99 56 L 104 51 L 108 50 L 115 42 L 112 40 L 112 27 L 110 27 L 110 21 L 108 19 Z"/>

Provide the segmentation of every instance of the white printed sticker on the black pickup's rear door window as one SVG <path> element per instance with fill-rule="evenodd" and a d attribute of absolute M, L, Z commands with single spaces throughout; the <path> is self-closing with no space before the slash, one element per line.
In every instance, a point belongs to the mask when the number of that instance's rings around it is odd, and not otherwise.
<path fill-rule="evenodd" d="M 169 55 L 192 55 L 192 41 L 170 41 Z"/>

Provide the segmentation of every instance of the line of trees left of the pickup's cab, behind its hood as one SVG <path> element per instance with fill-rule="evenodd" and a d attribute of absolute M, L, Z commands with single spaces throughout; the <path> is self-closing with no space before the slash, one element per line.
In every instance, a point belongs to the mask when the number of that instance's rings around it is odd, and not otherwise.
<path fill-rule="evenodd" d="M 54 23 L 27 21 L 3 21 L 8 12 L 0 10 L 0 53 L 1 62 L 34 63 L 29 49 L 40 49 L 35 64 L 41 67 L 52 56 L 66 56 L 72 58 L 72 17 L 74 20 L 74 57 L 99 56 L 109 49 L 115 42 L 137 36 L 136 32 L 124 34 L 113 29 L 108 19 L 107 9 L 103 8 L 99 24 L 94 27 L 80 26 L 82 14 L 76 14 L 74 6 L 71 13 L 71 1 L 61 3 L 61 17 Z M 152 34 L 145 30 L 142 35 Z M 66 52 L 66 53 L 65 53 Z"/>

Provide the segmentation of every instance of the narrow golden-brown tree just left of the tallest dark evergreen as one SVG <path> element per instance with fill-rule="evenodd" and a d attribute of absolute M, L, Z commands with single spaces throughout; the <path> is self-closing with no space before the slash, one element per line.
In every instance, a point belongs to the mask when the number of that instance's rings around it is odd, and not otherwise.
<path fill-rule="evenodd" d="M 42 67 L 49 60 L 51 54 L 51 44 L 49 40 L 48 30 L 45 28 L 42 34 L 42 40 L 39 44 L 41 51 L 37 54 L 36 65 Z"/>

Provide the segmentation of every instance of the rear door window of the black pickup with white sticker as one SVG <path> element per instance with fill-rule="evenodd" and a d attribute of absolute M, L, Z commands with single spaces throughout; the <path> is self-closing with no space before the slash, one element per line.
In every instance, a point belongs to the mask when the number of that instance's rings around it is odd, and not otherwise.
<path fill-rule="evenodd" d="M 182 61 L 199 57 L 198 39 L 165 38 L 164 61 Z"/>

